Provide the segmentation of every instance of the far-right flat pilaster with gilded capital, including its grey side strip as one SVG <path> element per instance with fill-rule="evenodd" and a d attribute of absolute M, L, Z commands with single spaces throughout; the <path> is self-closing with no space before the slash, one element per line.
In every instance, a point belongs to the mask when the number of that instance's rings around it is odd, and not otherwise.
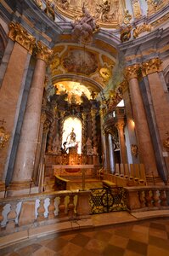
<path fill-rule="evenodd" d="M 165 142 L 169 140 L 169 102 L 161 81 L 161 60 L 150 59 L 142 64 L 144 81 L 144 101 L 149 102 L 149 119 L 152 119 L 151 136 L 155 148 L 159 174 L 167 181 L 169 169 L 169 153 Z M 147 104 L 148 105 L 148 104 Z"/>

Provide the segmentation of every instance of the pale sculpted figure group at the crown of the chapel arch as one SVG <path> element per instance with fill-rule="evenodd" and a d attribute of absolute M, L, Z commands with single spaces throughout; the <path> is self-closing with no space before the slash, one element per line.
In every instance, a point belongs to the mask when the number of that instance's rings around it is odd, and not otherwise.
<path fill-rule="evenodd" d="M 71 23 L 71 26 L 73 27 L 72 38 L 82 44 L 90 44 L 93 40 L 93 33 L 99 29 L 95 19 L 89 14 L 84 4 L 82 7 L 82 19 L 76 18 L 75 22 Z"/>

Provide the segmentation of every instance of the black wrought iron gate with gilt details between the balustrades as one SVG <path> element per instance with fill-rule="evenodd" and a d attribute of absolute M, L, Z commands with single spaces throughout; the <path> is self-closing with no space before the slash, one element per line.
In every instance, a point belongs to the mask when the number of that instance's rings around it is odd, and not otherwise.
<path fill-rule="evenodd" d="M 122 187 L 113 189 L 90 189 L 91 213 L 125 211 L 127 192 Z"/>

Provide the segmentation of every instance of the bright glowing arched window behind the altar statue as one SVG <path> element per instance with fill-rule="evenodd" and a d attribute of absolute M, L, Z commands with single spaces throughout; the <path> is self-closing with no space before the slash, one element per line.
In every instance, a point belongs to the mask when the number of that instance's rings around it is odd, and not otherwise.
<path fill-rule="evenodd" d="M 66 148 L 77 147 L 77 153 L 82 153 L 82 122 L 76 117 L 68 117 L 63 125 L 62 144 L 66 143 Z"/>

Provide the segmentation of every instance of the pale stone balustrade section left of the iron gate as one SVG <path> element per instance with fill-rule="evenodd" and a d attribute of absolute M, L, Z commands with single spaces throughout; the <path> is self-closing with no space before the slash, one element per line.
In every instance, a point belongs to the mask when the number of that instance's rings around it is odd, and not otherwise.
<path fill-rule="evenodd" d="M 66 190 L 3 199 L 0 202 L 0 236 L 60 221 L 90 218 L 90 194 L 89 190 Z"/>

